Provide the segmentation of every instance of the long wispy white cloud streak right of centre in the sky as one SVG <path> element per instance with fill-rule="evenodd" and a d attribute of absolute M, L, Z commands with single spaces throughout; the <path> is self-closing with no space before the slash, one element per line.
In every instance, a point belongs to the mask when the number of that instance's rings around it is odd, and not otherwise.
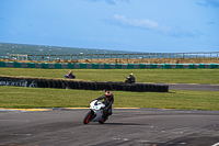
<path fill-rule="evenodd" d="M 160 25 L 158 22 L 154 22 L 149 19 L 139 19 L 139 20 L 127 19 L 126 16 L 118 15 L 118 14 L 113 15 L 113 23 L 120 26 L 149 30 L 154 33 L 159 33 L 161 35 L 166 35 L 166 36 L 172 36 L 172 37 L 182 37 L 182 36 L 197 37 L 200 35 L 205 35 L 204 33 L 198 32 L 198 31 L 191 32 L 181 27 L 172 29 L 169 26 Z"/>

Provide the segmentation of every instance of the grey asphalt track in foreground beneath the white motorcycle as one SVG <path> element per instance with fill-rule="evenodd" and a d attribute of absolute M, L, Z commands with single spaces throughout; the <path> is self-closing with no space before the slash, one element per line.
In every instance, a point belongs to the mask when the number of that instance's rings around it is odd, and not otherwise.
<path fill-rule="evenodd" d="M 84 125 L 87 112 L 0 111 L 0 146 L 219 146 L 219 111 L 113 109 Z"/>

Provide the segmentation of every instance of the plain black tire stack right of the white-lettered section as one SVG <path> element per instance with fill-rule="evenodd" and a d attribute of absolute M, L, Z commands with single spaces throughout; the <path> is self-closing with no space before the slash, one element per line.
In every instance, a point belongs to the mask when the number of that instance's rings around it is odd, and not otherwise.
<path fill-rule="evenodd" d="M 38 79 L 39 88 L 60 88 L 60 89 L 82 89 L 82 90 L 116 90 L 116 91 L 134 91 L 134 92 L 168 92 L 166 85 L 149 85 L 149 83 L 124 83 L 124 82 L 84 82 L 72 80 L 45 80 Z"/>

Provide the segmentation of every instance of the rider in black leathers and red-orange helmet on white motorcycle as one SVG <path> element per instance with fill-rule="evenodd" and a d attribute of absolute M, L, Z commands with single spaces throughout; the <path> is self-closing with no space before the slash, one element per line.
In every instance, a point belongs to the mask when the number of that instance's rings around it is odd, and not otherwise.
<path fill-rule="evenodd" d="M 104 108 L 104 115 L 112 115 L 112 106 L 113 106 L 113 102 L 114 102 L 114 98 L 113 98 L 113 93 L 112 91 L 106 91 L 106 93 L 95 100 L 103 100 L 103 103 L 105 104 Z"/>

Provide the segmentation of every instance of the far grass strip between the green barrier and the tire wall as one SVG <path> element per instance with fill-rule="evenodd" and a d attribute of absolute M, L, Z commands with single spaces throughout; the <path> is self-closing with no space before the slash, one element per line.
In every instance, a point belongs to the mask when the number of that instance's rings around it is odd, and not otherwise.
<path fill-rule="evenodd" d="M 70 69 L 0 68 L 0 75 L 62 78 Z M 130 72 L 137 82 L 219 85 L 219 69 L 72 69 L 77 79 L 124 81 Z"/>

